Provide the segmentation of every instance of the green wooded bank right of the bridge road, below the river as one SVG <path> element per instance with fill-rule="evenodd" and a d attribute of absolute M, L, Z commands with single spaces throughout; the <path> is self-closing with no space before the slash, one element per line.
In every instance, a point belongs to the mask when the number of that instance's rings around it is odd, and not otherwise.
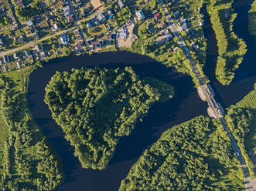
<path fill-rule="evenodd" d="M 241 149 L 250 176 L 254 177 L 254 165 L 250 158 L 254 157 L 256 151 L 256 83 L 254 90 L 244 99 L 235 106 L 230 106 L 225 119 Z"/>

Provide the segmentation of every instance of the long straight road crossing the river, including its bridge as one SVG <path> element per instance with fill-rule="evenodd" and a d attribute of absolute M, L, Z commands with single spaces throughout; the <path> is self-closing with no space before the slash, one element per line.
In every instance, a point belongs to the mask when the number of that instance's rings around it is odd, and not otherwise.
<path fill-rule="evenodd" d="M 177 36 L 179 38 L 178 45 L 181 49 L 183 49 L 183 52 L 186 55 L 186 58 L 189 59 L 189 61 L 191 63 L 191 68 L 192 68 L 193 72 L 195 73 L 196 78 L 200 82 L 200 89 L 202 90 L 203 95 L 207 99 L 208 106 L 210 107 L 211 111 L 213 112 L 213 117 L 215 119 L 220 119 L 222 126 L 224 127 L 225 131 L 227 132 L 227 135 L 230 138 L 231 146 L 232 146 L 234 152 L 236 153 L 237 159 L 240 162 L 241 169 L 244 172 L 245 190 L 251 191 L 251 190 L 253 190 L 253 188 L 251 186 L 253 181 L 250 179 L 247 166 L 244 163 L 244 157 L 241 154 L 241 150 L 237 146 L 237 143 L 236 143 L 234 137 L 232 136 L 232 133 L 230 132 L 230 129 L 227 126 L 227 123 L 225 122 L 224 111 L 222 111 L 220 104 L 217 104 L 216 100 L 214 99 L 213 95 L 215 95 L 215 94 L 214 94 L 213 90 L 211 91 L 209 89 L 208 85 L 206 84 L 206 82 L 204 82 L 202 75 L 200 74 L 199 70 L 196 67 L 196 63 L 193 61 L 193 58 L 189 53 L 189 49 L 186 46 L 186 43 L 184 42 L 182 36 L 179 34 L 179 32 L 181 32 L 183 29 L 180 26 L 176 26 L 174 24 L 174 21 L 171 18 L 171 16 L 169 15 L 169 11 L 166 8 L 166 5 L 164 5 L 161 2 L 162 2 L 162 0 L 160 0 L 160 4 L 162 4 L 162 8 L 164 8 L 164 10 L 166 12 L 166 20 L 167 20 L 167 22 L 169 22 L 169 29 L 172 31 L 172 33 L 175 36 Z"/>

